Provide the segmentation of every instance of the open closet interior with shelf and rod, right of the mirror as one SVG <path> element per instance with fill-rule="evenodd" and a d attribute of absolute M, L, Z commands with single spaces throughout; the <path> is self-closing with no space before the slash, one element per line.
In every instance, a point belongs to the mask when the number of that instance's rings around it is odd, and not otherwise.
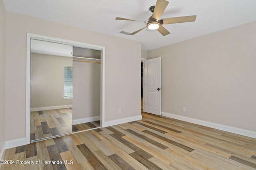
<path fill-rule="evenodd" d="M 73 47 L 73 125 L 100 120 L 100 55 Z"/>

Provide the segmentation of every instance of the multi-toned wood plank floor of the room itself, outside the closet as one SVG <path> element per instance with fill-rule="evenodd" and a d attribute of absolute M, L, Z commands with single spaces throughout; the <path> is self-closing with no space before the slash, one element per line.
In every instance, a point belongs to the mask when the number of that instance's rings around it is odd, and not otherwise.
<path fill-rule="evenodd" d="M 140 121 L 7 149 L 4 160 L 62 164 L 3 164 L 1 170 L 255 170 L 256 139 L 142 113 Z"/>

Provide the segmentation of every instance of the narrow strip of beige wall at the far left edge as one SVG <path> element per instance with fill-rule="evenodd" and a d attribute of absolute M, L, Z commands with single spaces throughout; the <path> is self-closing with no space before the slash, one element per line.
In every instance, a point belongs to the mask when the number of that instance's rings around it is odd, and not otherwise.
<path fill-rule="evenodd" d="M 0 152 L 5 143 L 5 9 L 0 0 Z"/>

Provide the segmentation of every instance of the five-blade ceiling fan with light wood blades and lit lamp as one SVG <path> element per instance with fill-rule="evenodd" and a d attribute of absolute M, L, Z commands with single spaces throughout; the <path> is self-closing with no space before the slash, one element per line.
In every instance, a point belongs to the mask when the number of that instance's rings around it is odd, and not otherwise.
<path fill-rule="evenodd" d="M 163 36 L 165 36 L 165 35 L 168 35 L 170 32 L 162 25 L 170 24 L 170 23 L 193 22 L 196 20 L 196 16 L 182 16 L 182 17 L 160 19 L 160 17 L 162 16 L 168 4 L 169 2 L 166 0 L 157 0 L 156 5 L 151 6 L 149 8 L 149 10 L 153 12 L 152 16 L 148 18 L 148 21 L 141 21 L 141 22 L 145 22 L 147 24 L 146 27 L 148 27 L 148 29 L 156 29 Z M 130 20 L 130 19 L 120 18 L 120 17 L 116 17 L 116 20 L 136 21 L 136 20 Z M 143 27 L 142 29 L 146 27 Z M 142 29 L 134 31 L 133 33 L 130 33 L 128 35 L 134 35 L 139 31 L 141 31 Z"/>

